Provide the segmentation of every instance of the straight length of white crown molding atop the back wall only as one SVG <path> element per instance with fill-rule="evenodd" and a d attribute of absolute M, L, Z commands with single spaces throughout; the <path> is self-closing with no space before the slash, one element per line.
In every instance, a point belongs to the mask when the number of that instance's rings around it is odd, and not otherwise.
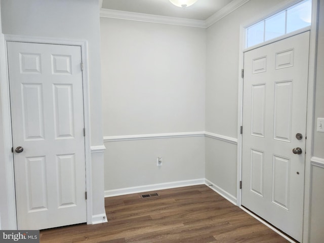
<path fill-rule="evenodd" d="M 127 11 L 112 10 L 112 9 L 101 9 L 100 17 L 206 28 L 206 24 L 204 20 L 167 17 L 167 16 L 160 16 L 160 15 L 153 15 L 153 14 L 133 13 Z"/>

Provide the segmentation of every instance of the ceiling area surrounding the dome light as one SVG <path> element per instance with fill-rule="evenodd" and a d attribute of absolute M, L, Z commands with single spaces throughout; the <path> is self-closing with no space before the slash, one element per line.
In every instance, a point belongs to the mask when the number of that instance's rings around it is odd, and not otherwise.
<path fill-rule="evenodd" d="M 235 1 L 198 0 L 182 9 L 169 0 L 102 0 L 102 9 L 205 21 L 231 2 Z"/>

